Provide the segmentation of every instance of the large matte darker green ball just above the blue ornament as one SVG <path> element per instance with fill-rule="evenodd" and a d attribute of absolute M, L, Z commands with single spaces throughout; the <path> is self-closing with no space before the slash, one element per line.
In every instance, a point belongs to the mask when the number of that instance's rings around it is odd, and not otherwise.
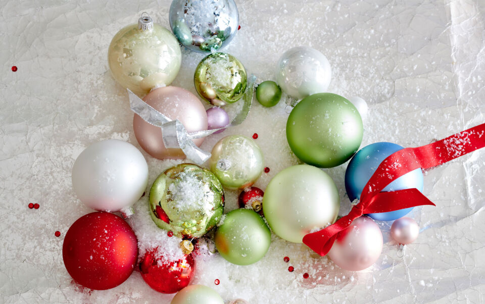
<path fill-rule="evenodd" d="M 305 97 L 286 122 L 286 139 L 293 153 L 320 168 L 347 162 L 359 149 L 363 132 L 359 111 L 332 93 Z"/>

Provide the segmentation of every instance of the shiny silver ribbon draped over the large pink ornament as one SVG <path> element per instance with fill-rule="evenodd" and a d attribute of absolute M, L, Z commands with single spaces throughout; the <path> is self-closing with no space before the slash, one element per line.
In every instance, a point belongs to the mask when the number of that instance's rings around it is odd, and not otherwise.
<path fill-rule="evenodd" d="M 132 91 L 127 89 L 128 97 L 130 99 L 131 111 L 138 114 L 144 121 L 162 129 L 162 139 L 165 147 L 182 149 L 185 156 L 198 165 L 204 164 L 211 154 L 199 148 L 192 139 L 206 137 L 219 130 L 237 126 L 246 119 L 253 103 L 254 84 L 256 76 L 251 75 L 248 79 L 248 86 L 244 94 L 243 108 L 234 117 L 231 123 L 223 128 L 203 130 L 198 132 L 188 133 L 183 124 L 178 120 L 172 120 L 162 113 L 155 110 L 153 107 L 145 103 L 141 98 L 136 96 Z"/>

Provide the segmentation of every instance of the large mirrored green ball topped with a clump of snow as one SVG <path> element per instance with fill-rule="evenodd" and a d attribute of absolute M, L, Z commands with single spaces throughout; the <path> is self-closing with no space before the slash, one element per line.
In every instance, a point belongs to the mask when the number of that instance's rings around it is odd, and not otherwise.
<path fill-rule="evenodd" d="M 224 189 L 209 170 L 181 164 L 160 174 L 150 189 L 150 215 L 177 237 L 201 237 L 224 212 Z"/>

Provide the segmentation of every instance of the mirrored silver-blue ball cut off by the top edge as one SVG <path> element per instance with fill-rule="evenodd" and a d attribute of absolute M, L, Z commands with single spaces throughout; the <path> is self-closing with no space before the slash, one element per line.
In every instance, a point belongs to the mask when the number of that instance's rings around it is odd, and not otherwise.
<path fill-rule="evenodd" d="M 233 0 L 174 0 L 169 20 L 180 43 L 195 52 L 209 53 L 232 40 L 239 13 Z"/>

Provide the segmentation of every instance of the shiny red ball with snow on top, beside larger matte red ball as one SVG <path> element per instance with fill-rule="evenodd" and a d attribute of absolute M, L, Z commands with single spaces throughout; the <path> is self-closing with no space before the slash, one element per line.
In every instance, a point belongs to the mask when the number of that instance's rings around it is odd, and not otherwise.
<path fill-rule="evenodd" d="M 163 249 L 148 250 L 140 261 L 143 280 L 153 289 L 162 293 L 175 293 L 187 286 L 193 278 L 196 262 L 192 255 L 177 261 L 163 258 Z"/>

